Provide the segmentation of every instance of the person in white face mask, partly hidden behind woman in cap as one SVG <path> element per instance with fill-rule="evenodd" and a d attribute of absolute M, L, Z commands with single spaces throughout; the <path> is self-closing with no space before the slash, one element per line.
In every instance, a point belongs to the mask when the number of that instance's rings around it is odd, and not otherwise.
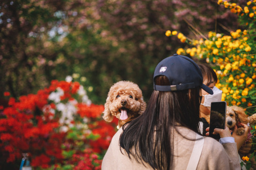
<path fill-rule="evenodd" d="M 215 84 L 218 82 L 218 77 L 214 69 L 212 69 L 209 65 L 203 64 L 203 63 L 198 63 L 198 66 L 203 75 L 203 84 L 205 84 L 206 86 L 211 88 L 212 91 L 214 91 L 214 94 L 210 95 L 209 93 L 207 93 L 205 90 L 202 89 L 202 101 L 200 105 L 200 116 L 201 116 L 200 131 L 202 132 L 203 135 L 206 135 L 206 128 L 209 127 L 209 124 L 206 119 L 209 120 L 210 104 L 211 102 L 221 101 L 222 91 L 215 86 Z M 242 144 L 247 139 L 249 127 L 245 124 L 241 124 L 241 125 L 244 126 L 245 133 L 241 136 L 236 135 L 236 131 L 237 131 L 237 127 L 236 127 L 232 135 L 234 137 L 234 140 L 237 143 L 237 148 L 239 150 L 239 153 L 249 154 L 251 149 L 251 144 L 250 144 L 251 142 L 247 143 L 244 147 L 242 147 Z"/>

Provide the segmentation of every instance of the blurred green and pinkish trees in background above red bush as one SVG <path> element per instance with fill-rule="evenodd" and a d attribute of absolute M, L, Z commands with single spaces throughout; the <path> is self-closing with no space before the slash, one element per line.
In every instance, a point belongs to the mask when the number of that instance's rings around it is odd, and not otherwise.
<path fill-rule="evenodd" d="M 237 15 L 217 2 L 2 0 L 0 102 L 4 91 L 18 98 L 68 75 L 95 104 L 120 80 L 137 83 L 147 101 L 156 64 L 185 45 L 166 30 L 199 39 L 239 29 Z"/>

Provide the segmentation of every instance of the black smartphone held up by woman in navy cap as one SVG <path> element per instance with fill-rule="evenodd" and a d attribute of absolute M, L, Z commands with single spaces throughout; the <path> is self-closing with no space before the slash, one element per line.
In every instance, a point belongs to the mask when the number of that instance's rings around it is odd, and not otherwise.
<path fill-rule="evenodd" d="M 220 139 L 220 135 L 213 134 L 215 128 L 225 129 L 226 125 L 226 102 L 211 102 L 209 136 Z"/>

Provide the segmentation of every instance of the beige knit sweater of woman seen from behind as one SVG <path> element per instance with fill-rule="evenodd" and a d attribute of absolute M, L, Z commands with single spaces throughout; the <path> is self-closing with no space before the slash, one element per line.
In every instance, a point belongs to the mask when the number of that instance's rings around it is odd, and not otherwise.
<path fill-rule="evenodd" d="M 196 133 L 185 127 L 178 127 L 181 134 L 196 138 Z M 119 147 L 119 137 L 122 128 L 114 135 L 110 147 L 102 161 L 104 169 L 152 169 L 150 165 L 138 163 L 134 159 L 129 159 L 127 153 Z M 186 169 L 187 164 L 194 148 L 195 141 L 187 140 L 174 132 L 174 157 L 172 169 Z M 167 149 L 167 148 L 166 148 Z M 203 151 L 197 169 L 241 169 L 236 143 L 220 144 L 211 137 L 205 137 Z"/>

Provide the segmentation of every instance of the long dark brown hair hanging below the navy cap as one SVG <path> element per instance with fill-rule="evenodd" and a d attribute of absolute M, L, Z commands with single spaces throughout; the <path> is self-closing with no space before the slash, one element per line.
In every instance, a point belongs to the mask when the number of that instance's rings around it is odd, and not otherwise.
<path fill-rule="evenodd" d="M 165 76 L 159 76 L 155 84 L 170 83 Z M 131 154 L 135 160 L 140 163 L 143 160 L 153 169 L 170 169 L 174 156 L 172 127 L 176 128 L 175 125 L 179 124 L 199 133 L 199 90 L 198 87 L 180 91 L 153 91 L 145 112 L 122 127 L 120 147 L 129 158 Z"/>

